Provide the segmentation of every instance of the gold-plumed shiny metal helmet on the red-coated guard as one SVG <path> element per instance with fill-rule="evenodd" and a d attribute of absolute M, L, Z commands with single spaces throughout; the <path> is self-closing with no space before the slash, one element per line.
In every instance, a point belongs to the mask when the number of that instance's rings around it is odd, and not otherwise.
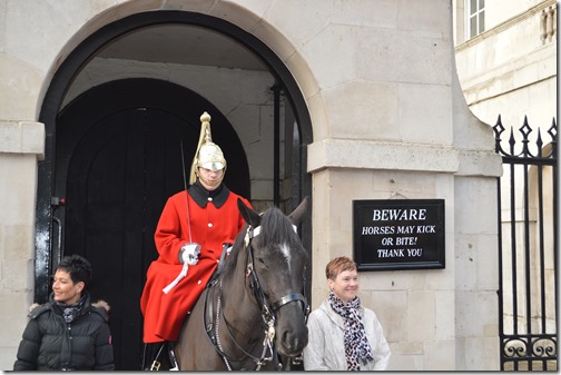
<path fill-rule="evenodd" d="M 197 180 L 199 167 L 210 169 L 213 171 L 224 168 L 226 172 L 226 159 L 224 158 L 224 154 L 220 147 L 213 142 L 213 135 L 210 134 L 210 115 L 208 115 L 207 112 L 204 112 L 200 116 L 199 142 L 197 146 L 197 151 L 195 152 L 195 157 L 193 158 L 189 175 L 189 185 L 195 184 L 195 181 Z M 222 182 L 222 179 L 218 181 L 218 184 L 219 182 Z"/>

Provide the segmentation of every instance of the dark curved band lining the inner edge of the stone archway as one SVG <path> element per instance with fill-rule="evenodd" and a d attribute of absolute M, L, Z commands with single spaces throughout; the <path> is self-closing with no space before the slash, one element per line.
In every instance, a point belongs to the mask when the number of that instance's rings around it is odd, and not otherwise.
<path fill-rule="evenodd" d="M 125 33 L 134 32 L 134 30 L 142 27 L 166 23 L 195 24 L 197 27 L 211 29 L 215 32 L 222 32 L 236 39 L 254 53 L 257 53 L 264 63 L 266 63 L 270 73 L 275 77 L 277 87 L 283 91 L 286 98 L 286 102 L 289 107 L 287 109 L 288 117 L 294 118 L 295 122 L 295 137 L 292 138 L 294 151 L 291 158 L 286 159 L 293 160 L 292 162 L 294 164 L 294 178 L 292 178 L 293 198 L 295 201 L 299 201 L 303 196 L 311 195 L 311 181 L 305 171 L 305 145 L 311 142 L 309 116 L 304 103 L 304 98 L 294 78 L 284 63 L 267 46 L 250 33 L 247 33 L 232 23 L 214 17 L 189 12 L 155 11 L 132 14 L 114 23 L 109 23 L 87 38 L 62 62 L 59 70 L 53 76 L 41 108 L 40 120 L 46 125 L 47 139 L 46 157 L 39 165 L 38 214 L 36 224 L 36 302 L 43 302 L 46 299 L 49 293 L 49 283 L 47 279 L 50 275 L 50 269 L 56 266 L 58 256 L 61 254 L 61 251 L 57 253 L 53 249 L 55 243 L 61 240 L 61 238 L 56 238 L 57 234 L 56 230 L 53 230 L 56 229 L 53 223 L 57 219 L 53 213 L 59 209 L 56 205 L 52 205 L 52 197 L 58 197 L 58 191 L 55 190 L 53 186 L 56 186 L 55 179 L 60 172 L 60 170 L 57 170 L 57 168 L 60 168 L 60 165 L 57 164 L 56 156 L 58 152 L 57 148 L 61 147 L 57 145 L 55 140 L 57 128 L 60 125 L 60 108 L 62 108 L 65 103 L 68 89 L 72 85 L 76 75 L 111 40 Z M 63 223 L 63 220 L 65 217 L 62 216 L 62 220 L 59 218 L 57 223 L 60 224 Z M 311 223 L 304 224 L 302 233 L 304 244 L 307 248 L 311 248 Z M 62 235 L 62 237 L 63 236 L 65 235 Z M 106 269 L 102 272 L 106 272 Z M 308 274 L 308 279 L 311 279 L 311 272 Z M 136 346 L 134 343 L 130 344 Z M 135 366 L 135 361 L 138 361 L 135 351 L 132 351 L 131 354 L 124 354 L 120 369 L 137 369 L 138 367 Z"/>

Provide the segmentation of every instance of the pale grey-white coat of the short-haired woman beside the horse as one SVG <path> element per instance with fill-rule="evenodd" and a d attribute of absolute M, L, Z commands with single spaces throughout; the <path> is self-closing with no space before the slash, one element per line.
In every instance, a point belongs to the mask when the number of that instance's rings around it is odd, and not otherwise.
<path fill-rule="evenodd" d="M 361 364 L 361 371 L 384 371 L 390 362 L 390 346 L 384 337 L 382 325 L 373 310 L 360 307 L 366 330 L 366 337 L 372 346 L 374 361 Z M 308 345 L 304 348 L 304 369 L 306 371 L 346 371 L 344 346 L 345 322 L 335 313 L 325 299 L 318 308 L 309 314 Z"/>

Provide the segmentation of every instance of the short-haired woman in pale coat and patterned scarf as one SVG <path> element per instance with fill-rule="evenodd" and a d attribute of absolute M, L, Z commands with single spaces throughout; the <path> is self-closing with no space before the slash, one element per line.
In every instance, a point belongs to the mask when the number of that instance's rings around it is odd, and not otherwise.
<path fill-rule="evenodd" d="M 361 306 L 356 264 L 348 257 L 332 259 L 325 275 L 331 292 L 309 314 L 304 369 L 386 369 L 390 346 L 376 314 Z"/>

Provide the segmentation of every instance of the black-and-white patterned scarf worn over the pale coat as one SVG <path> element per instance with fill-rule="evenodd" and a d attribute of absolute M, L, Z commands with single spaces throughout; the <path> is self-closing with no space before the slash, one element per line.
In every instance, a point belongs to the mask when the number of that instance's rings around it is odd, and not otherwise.
<path fill-rule="evenodd" d="M 372 347 L 366 337 L 362 318 L 358 315 L 361 299 L 358 297 L 351 302 L 344 302 L 329 292 L 329 304 L 335 313 L 345 319 L 345 356 L 348 371 L 360 371 L 361 362 L 374 359 Z"/>

